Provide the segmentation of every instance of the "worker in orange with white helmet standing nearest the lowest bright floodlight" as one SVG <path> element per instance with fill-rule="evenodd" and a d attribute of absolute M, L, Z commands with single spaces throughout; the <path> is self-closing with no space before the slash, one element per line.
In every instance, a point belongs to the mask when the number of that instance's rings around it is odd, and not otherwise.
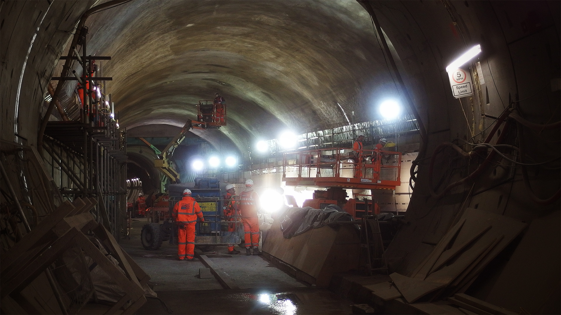
<path fill-rule="evenodd" d="M 259 219 L 257 210 L 259 206 L 259 195 L 253 190 L 253 180 L 246 180 L 246 189 L 240 193 L 240 212 L 242 216 L 243 232 L 245 239 L 246 255 L 260 255 L 259 251 Z"/>

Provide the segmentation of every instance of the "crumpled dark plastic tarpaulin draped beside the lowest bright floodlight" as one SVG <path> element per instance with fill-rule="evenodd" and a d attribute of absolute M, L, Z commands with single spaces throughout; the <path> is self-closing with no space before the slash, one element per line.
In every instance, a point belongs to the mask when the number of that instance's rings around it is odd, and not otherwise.
<path fill-rule="evenodd" d="M 337 225 L 335 221 L 352 221 L 353 218 L 339 206 L 329 205 L 325 209 L 287 207 L 279 214 L 278 220 L 284 238 L 291 238 L 324 225 L 333 227 Z"/>

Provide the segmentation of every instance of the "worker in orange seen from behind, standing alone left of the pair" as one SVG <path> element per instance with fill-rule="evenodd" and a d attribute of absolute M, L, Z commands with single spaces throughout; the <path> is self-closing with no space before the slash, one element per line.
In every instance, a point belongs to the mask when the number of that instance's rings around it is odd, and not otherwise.
<path fill-rule="evenodd" d="M 195 257 L 197 217 L 201 222 L 205 221 L 199 203 L 191 197 L 191 191 L 185 189 L 183 198 L 173 206 L 172 211 L 172 219 L 177 225 L 177 256 L 181 261 L 193 261 Z"/>

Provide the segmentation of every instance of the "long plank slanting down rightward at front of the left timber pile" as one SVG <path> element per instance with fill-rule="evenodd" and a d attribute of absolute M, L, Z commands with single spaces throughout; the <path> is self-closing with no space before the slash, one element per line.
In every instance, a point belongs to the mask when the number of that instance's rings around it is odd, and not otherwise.
<path fill-rule="evenodd" d="M 140 285 L 137 285 L 135 282 L 131 282 L 123 274 L 123 272 L 117 266 L 113 265 L 113 262 L 109 260 L 109 258 L 105 257 L 105 255 L 99 251 L 97 247 L 82 233 L 79 233 L 76 238 L 76 244 L 84 250 L 88 256 L 91 257 L 96 263 L 98 263 L 99 267 L 101 267 L 107 274 L 117 283 L 117 285 L 121 286 L 121 289 L 129 294 L 131 294 L 132 298 L 140 295 L 144 295 L 144 289 Z"/>

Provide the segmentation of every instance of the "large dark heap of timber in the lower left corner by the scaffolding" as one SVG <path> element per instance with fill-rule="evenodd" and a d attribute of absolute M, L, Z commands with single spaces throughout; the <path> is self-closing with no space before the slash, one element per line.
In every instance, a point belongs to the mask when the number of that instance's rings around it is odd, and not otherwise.
<path fill-rule="evenodd" d="M 63 201 L 33 147 L 2 141 L 0 157 L 0 313 L 127 314 L 155 297 L 96 198 Z"/>

